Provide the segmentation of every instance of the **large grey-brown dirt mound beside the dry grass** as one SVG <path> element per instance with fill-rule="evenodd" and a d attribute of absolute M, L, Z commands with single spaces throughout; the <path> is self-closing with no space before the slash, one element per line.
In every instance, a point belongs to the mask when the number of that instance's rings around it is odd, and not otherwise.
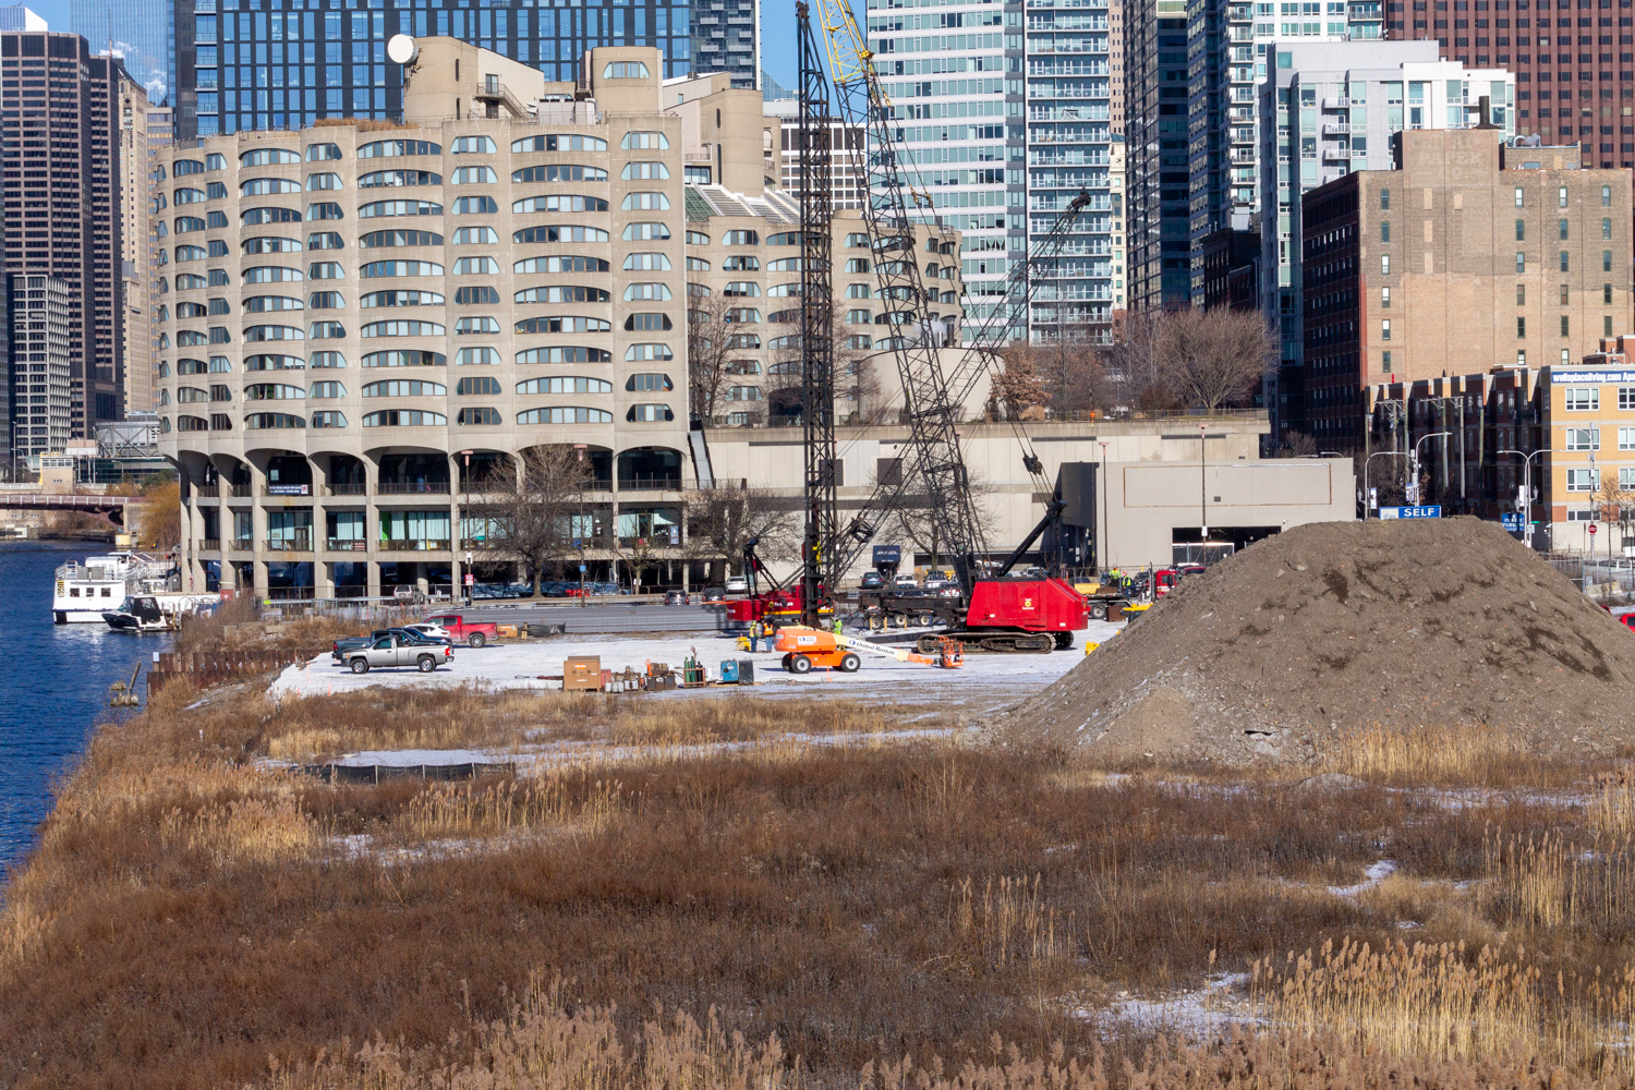
<path fill-rule="evenodd" d="M 1109 760 L 1313 762 L 1347 730 L 1635 739 L 1635 632 L 1475 518 L 1318 523 L 1187 577 L 999 734 Z"/>

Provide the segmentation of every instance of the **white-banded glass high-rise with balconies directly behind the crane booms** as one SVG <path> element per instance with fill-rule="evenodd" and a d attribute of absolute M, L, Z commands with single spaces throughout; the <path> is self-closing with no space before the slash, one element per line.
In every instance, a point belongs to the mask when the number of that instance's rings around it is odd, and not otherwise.
<path fill-rule="evenodd" d="M 1089 191 L 1028 314 L 1002 340 L 1112 337 L 1113 65 L 1110 0 L 966 0 L 921 11 L 871 0 L 868 41 L 912 180 L 963 232 L 966 337 L 994 314 L 1015 261 Z"/>

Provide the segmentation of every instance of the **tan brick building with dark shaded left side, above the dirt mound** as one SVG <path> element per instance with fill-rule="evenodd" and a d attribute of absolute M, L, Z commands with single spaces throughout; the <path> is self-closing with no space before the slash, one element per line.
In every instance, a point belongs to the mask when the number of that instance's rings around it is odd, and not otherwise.
<path fill-rule="evenodd" d="M 1628 328 L 1630 172 L 1498 136 L 1406 131 L 1396 170 L 1305 194 L 1301 395 L 1321 448 L 1365 444 L 1365 386 L 1571 364 Z"/>

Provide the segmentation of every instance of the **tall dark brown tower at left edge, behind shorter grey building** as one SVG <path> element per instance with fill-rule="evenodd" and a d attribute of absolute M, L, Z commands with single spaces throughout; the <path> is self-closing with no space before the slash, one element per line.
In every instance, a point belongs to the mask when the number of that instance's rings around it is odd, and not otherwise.
<path fill-rule="evenodd" d="M 124 185 L 119 60 L 78 34 L 0 33 L 8 273 L 69 286 L 72 436 L 124 415 Z M 146 160 L 136 165 L 146 172 Z M 33 391 L 29 392 L 33 395 Z"/>

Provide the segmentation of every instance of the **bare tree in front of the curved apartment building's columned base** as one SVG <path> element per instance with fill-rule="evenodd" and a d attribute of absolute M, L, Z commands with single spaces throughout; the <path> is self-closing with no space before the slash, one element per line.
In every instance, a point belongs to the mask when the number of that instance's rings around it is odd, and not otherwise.
<path fill-rule="evenodd" d="M 572 516 L 589 485 L 590 462 L 567 444 L 530 448 L 520 466 L 492 472 L 477 485 L 492 498 L 473 505 L 473 515 L 494 523 L 490 547 L 523 564 L 535 595 L 546 569 L 574 552 Z"/>

